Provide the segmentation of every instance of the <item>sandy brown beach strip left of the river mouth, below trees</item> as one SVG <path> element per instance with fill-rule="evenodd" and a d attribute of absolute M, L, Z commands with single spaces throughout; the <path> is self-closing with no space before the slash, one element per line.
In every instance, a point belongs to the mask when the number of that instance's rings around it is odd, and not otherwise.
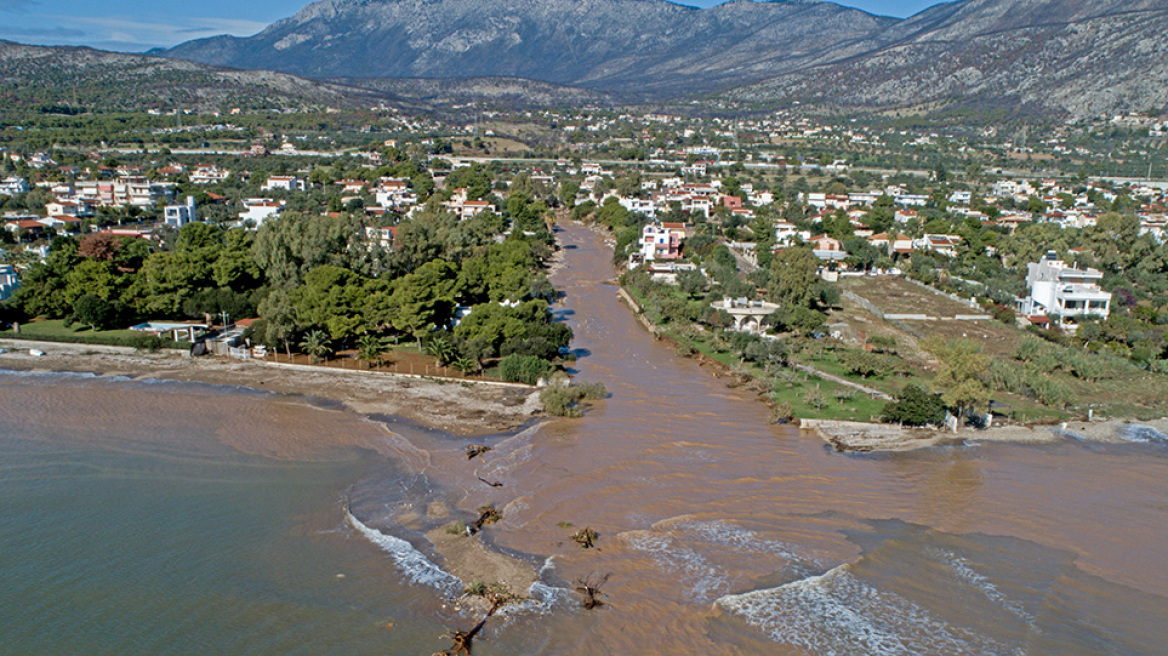
<path fill-rule="evenodd" d="M 446 381 L 381 371 L 352 371 L 262 361 L 190 358 L 183 351 L 0 340 L 0 368 L 70 371 L 252 388 L 319 397 L 359 414 L 394 414 L 457 435 L 508 431 L 537 416 L 536 390 L 523 385 Z M 33 356 L 30 349 L 44 351 Z"/>

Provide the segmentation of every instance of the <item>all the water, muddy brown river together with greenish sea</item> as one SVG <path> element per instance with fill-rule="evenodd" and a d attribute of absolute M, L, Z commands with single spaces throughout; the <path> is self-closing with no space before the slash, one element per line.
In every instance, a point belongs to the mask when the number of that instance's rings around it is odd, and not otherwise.
<path fill-rule="evenodd" d="M 0 644 L 86 651 L 84 633 L 107 629 L 120 642 L 88 652 L 125 652 L 134 635 L 154 635 L 147 644 L 179 652 L 430 654 L 449 647 L 438 635 L 478 614 L 457 607 L 465 581 L 426 536 L 493 503 L 502 521 L 485 529 L 485 544 L 526 563 L 543 587 L 538 606 L 492 619 L 479 654 L 1162 652 L 1168 451 L 1157 435 L 834 453 L 770 426 L 756 395 L 654 341 L 605 284 L 613 271 L 600 236 L 576 224 L 558 235 L 576 247 L 556 273 L 566 291 L 557 316 L 576 332 L 578 378 L 611 392 L 583 419 L 466 439 L 239 390 L 0 377 L 5 444 L 34 445 L 36 458 L 40 433 L 79 445 L 56 477 L 23 460 L 0 468 L 4 490 L 20 493 L 0 503 L 27 505 L 5 507 L 2 517 L 21 523 L 0 521 L 6 535 L 44 523 L 37 500 L 60 486 L 58 508 L 83 509 L 69 524 L 116 526 L 95 531 L 95 544 L 130 554 L 91 559 L 105 568 L 98 579 L 159 594 L 125 582 L 144 568 L 131 558 L 162 563 L 169 549 L 192 549 L 189 560 L 207 565 L 194 582 L 211 581 L 183 587 L 157 574 L 186 591 L 164 596 L 185 620 L 157 605 L 155 615 L 135 609 L 130 595 L 107 594 L 119 605 L 103 607 L 68 579 L 74 588 L 42 594 L 64 607 L 82 591 L 88 606 L 37 626 L 8 600 L 0 623 L 28 642 Z M 142 446 L 151 440 L 161 446 Z M 473 442 L 493 449 L 468 460 Z M 111 473 L 100 489 L 131 477 L 93 455 L 103 449 L 146 482 L 126 497 L 138 505 L 118 497 L 132 512 L 99 505 L 96 521 L 92 504 L 74 500 L 90 490 L 77 481 L 92 477 L 95 461 Z M 13 462 L 19 453 L 6 452 Z M 159 482 L 169 477 L 182 484 Z M 152 490 L 166 503 L 145 503 Z M 174 508 L 202 514 L 176 522 Z M 585 526 L 599 533 L 596 549 L 571 539 Z M 166 531 L 181 539 L 159 540 Z M 262 539 L 236 542 L 249 535 Z M 37 545 L 26 546 L 35 559 Z M 97 550 L 76 553 L 86 551 Z M 9 589 L 34 589 L 53 572 L 22 571 Z M 564 592 L 604 575 L 607 607 L 584 610 Z M 230 621 L 237 608 L 249 621 Z M 93 609 L 117 622 L 85 620 Z M 36 642 L 69 633 L 70 621 L 84 630 Z M 41 630 L 20 633 L 22 622 Z"/>

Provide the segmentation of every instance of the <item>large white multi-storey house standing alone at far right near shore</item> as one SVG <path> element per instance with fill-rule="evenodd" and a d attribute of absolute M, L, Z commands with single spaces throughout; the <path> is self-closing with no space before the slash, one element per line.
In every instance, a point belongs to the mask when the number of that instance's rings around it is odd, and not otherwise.
<path fill-rule="evenodd" d="M 1027 316 L 1057 314 L 1064 322 L 1079 316 L 1111 314 L 1111 294 L 1099 288 L 1103 273 L 1094 268 L 1068 266 L 1054 251 L 1042 261 L 1027 265 L 1027 286 L 1030 295 L 1022 299 L 1020 309 Z"/>

